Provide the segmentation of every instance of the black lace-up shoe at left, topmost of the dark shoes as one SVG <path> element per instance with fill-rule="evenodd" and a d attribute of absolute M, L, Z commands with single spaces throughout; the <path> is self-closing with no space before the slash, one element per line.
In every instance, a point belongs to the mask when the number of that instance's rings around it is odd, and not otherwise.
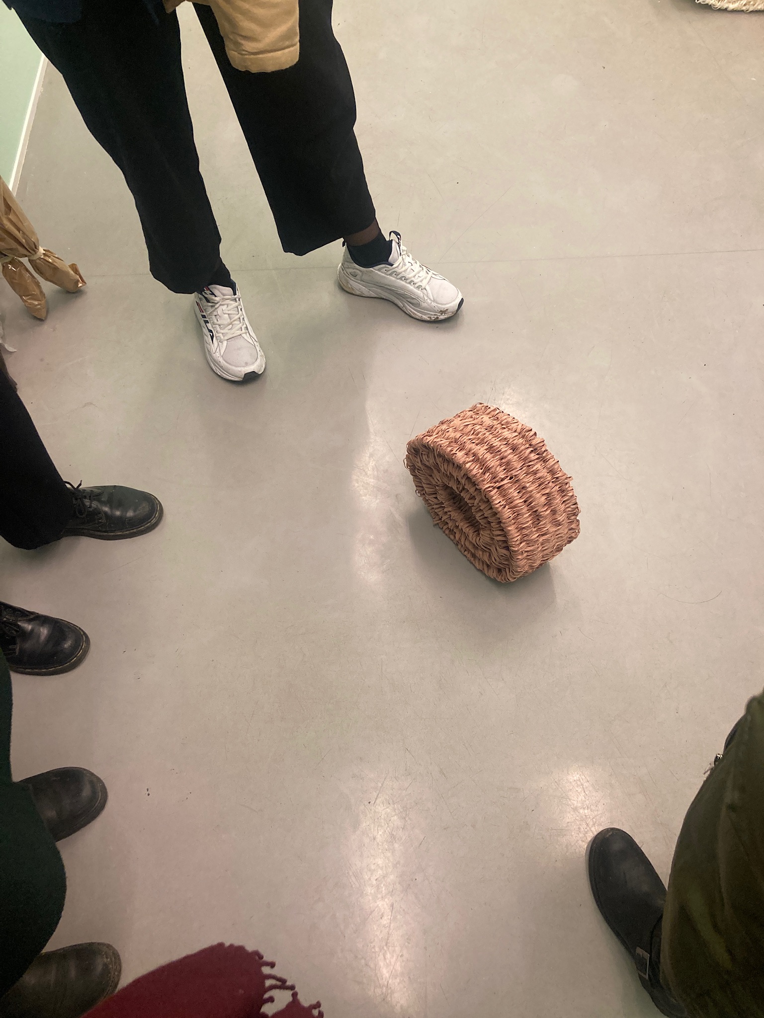
<path fill-rule="evenodd" d="M 138 538 L 153 530 L 164 512 L 156 496 L 134 488 L 119 485 L 68 487 L 74 508 L 62 538 L 98 538 L 100 541 Z"/>

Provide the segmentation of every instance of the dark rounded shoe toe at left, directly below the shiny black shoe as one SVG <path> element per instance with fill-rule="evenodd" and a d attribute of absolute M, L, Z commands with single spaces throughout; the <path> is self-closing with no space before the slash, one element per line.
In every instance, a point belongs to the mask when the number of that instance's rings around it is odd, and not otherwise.
<path fill-rule="evenodd" d="M 54 841 L 63 841 L 92 824 L 109 797 L 98 775 L 81 767 L 60 767 L 18 784 L 29 789 Z"/>

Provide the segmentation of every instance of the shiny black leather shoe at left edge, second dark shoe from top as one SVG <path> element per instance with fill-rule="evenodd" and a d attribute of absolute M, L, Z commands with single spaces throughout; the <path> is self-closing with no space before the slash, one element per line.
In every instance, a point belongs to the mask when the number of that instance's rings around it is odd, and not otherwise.
<path fill-rule="evenodd" d="M 73 622 L 0 601 L 0 651 L 11 672 L 60 675 L 76 668 L 90 649 L 88 633 Z"/>

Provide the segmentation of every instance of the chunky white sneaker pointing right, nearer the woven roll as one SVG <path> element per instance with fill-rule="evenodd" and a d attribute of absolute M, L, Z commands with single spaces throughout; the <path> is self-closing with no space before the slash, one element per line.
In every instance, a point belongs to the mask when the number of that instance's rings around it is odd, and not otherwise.
<path fill-rule="evenodd" d="M 400 234 L 390 234 L 390 261 L 364 269 L 345 247 L 337 269 L 339 285 L 359 297 L 383 297 L 420 322 L 441 322 L 451 318 L 465 298 L 447 279 L 413 258 L 400 242 Z"/>

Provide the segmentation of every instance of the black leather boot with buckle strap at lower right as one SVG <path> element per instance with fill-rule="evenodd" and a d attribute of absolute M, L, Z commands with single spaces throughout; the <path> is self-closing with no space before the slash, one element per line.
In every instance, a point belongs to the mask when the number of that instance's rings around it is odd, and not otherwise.
<path fill-rule="evenodd" d="M 595 904 L 629 952 L 653 1004 L 669 1018 L 685 1018 L 685 1008 L 660 981 L 666 889 L 653 864 L 631 835 L 607 828 L 589 843 L 587 868 Z"/>

